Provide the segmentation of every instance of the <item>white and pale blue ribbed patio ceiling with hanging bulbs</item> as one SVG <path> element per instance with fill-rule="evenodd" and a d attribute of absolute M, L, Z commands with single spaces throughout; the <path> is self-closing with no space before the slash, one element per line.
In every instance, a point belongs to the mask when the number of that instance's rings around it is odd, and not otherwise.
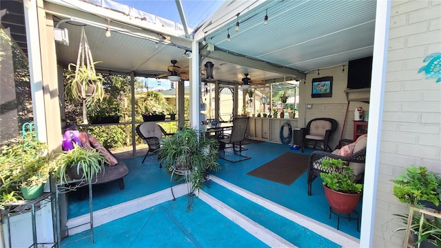
<path fill-rule="evenodd" d="M 2 1 L 2 26 L 8 2 L 12 1 Z M 44 8 L 53 15 L 54 25 L 68 30 L 70 44 L 57 43 L 61 65 L 76 63 L 84 27 L 94 61 L 102 61 L 96 64 L 99 70 L 155 77 L 167 74 L 172 59 L 188 69 L 189 59 L 183 55 L 191 50 L 192 39 L 185 37 L 179 23 L 148 14 L 140 19 L 78 0 L 48 0 Z M 240 82 L 245 73 L 254 81 L 303 79 L 305 72 L 371 56 L 375 13 L 376 1 L 225 1 L 193 35 L 214 44 L 214 52 L 201 45 L 201 54 L 207 55 L 202 64 L 214 63 L 215 79 Z M 105 36 L 107 19 L 111 37 Z"/>

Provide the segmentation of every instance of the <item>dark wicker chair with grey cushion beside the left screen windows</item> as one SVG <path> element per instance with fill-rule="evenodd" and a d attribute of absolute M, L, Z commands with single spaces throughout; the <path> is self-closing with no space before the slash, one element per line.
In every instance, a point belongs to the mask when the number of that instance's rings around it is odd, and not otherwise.
<path fill-rule="evenodd" d="M 163 138 L 169 138 L 173 135 L 165 132 L 163 127 L 154 122 L 145 122 L 137 125 L 136 134 L 138 134 L 139 137 L 143 140 L 143 143 L 149 146 L 149 149 L 147 150 L 147 153 L 145 154 L 142 163 L 144 163 L 145 158 L 147 158 L 147 155 L 150 152 L 158 151 L 159 147 L 161 147 L 161 140 L 163 140 Z M 162 165 L 160 164 L 159 167 L 161 168 Z"/>

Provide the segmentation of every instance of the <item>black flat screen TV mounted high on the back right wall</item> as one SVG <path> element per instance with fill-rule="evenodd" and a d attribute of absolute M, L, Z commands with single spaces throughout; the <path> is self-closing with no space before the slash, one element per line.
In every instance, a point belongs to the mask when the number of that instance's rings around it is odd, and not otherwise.
<path fill-rule="evenodd" d="M 348 89 L 364 89 L 371 87 L 372 56 L 349 61 L 348 67 Z"/>

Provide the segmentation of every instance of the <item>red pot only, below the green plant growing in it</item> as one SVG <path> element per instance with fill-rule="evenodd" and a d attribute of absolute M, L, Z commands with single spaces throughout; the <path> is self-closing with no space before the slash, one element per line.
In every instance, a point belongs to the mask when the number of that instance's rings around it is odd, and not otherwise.
<path fill-rule="evenodd" d="M 348 194 L 336 192 L 325 185 L 323 187 L 325 188 L 326 199 L 334 211 L 338 211 L 340 214 L 350 214 L 353 209 L 356 209 L 361 193 Z"/>

